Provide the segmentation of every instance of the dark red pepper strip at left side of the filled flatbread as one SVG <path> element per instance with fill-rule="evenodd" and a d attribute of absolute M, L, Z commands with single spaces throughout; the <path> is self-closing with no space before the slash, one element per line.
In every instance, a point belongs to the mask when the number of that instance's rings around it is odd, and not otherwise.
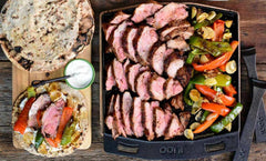
<path fill-rule="evenodd" d="M 28 127 L 29 111 L 31 109 L 32 103 L 35 101 L 35 98 L 30 98 L 21 113 L 19 114 L 18 120 L 14 123 L 13 130 L 24 134 L 24 130 Z"/>

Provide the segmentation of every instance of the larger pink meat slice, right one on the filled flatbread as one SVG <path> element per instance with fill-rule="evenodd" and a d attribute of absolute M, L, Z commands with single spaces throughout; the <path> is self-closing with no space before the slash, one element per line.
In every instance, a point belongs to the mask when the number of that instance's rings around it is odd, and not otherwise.
<path fill-rule="evenodd" d="M 55 103 L 51 103 L 44 111 L 42 117 L 42 134 L 45 138 L 54 139 L 58 133 L 58 127 L 62 115 L 65 102 L 63 99 L 59 99 Z"/>

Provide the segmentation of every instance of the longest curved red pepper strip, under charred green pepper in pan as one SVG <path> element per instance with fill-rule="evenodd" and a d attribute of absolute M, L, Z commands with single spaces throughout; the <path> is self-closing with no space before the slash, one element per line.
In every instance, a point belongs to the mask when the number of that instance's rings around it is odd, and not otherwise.
<path fill-rule="evenodd" d="M 236 50 L 237 46 L 238 46 L 238 41 L 233 41 L 233 42 L 231 42 L 231 47 L 233 49 L 232 51 L 225 52 L 219 58 L 217 58 L 211 62 L 207 62 L 205 64 L 192 63 L 192 66 L 194 67 L 194 69 L 196 71 L 205 71 L 205 70 L 216 69 L 216 68 L 225 64 L 231 59 L 231 57 L 234 53 L 234 51 Z"/>

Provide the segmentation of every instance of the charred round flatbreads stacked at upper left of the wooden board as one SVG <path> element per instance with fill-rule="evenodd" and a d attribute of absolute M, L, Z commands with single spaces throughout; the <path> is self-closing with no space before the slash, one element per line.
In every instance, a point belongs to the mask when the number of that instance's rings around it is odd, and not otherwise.
<path fill-rule="evenodd" d="M 93 32 L 88 0 L 9 0 L 0 14 L 6 56 L 31 72 L 63 67 L 91 42 Z"/>

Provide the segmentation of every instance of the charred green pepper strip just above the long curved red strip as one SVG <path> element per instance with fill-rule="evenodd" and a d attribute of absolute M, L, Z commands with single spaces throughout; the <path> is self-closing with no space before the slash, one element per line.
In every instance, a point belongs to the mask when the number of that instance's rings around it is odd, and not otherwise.
<path fill-rule="evenodd" d="M 224 52 L 232 51 L 232 47 L 228 42 L 211 42 L 200 37 L 192 36 L 190 38 L 190 44 L 194 46 L 203 51 L 206 51 L 214 57 L 218 57 Z"/>

